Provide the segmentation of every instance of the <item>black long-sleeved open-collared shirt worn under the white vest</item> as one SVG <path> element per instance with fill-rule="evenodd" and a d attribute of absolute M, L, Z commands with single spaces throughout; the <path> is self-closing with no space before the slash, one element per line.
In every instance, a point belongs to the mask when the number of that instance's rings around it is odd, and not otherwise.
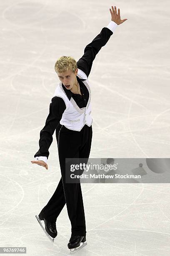
<path fill-rule="evenodd" d="M 93 60 L 95 59 L 96 54 L 100 51 L 102 46 L 105 46 L 107 41 L 109 40 L 110 36 L 113 34 L 113 32 L 109 28 L 102 28 L 101 32 L 92 40 L 90 44 L 88 44 L 85 47 L 83 56 L 77 61 L 77 68 L 81 69 L 87 77 L 90 74 Z M 63 89 L 65 90 L 65 93 L 67 97 L 70 98 L 73 97 L 79 108 L 86 107 L 89 92 L 81 81 L 79 77 L 77 77 L 77 81 L 80 84 L 80 91 L 81 95 L 74 94 L 70 90 L 67 90 L 65 86 L 62 84 Z M 60 97 L 53 97 L 50 103 L 50 111 L 49 115 L 47 116 L 47 120 L 45 122 L 45 126 L 40 131 L 40 140 L 39 140 L 39 150 L 34 155 L 36 156 L 49 156 L 49 147 L 52 143 L 52 135 L 57 128 L 57 126 L 60 123 L 60 120 L 62 118 L 62 113 L 64 112 L 66 106 L 64 100 Z"/>

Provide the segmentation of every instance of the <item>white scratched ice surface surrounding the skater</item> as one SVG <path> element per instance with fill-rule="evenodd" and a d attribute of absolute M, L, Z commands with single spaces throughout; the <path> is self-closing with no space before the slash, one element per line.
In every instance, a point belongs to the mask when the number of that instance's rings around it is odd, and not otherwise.
<path fill-rule="evenodd" d="M 91 158 L 169 158 L 170 2 L 0 2 L 0 246 L 28 256 L 69 255 L 66 206 L 54 245 L 35 219 L 60 180 L 55 133 L 48 170 L 31 164 L 59 82 L 55 61 L 77 61 L 111 20 L 122 19 L 92 64 Z M 102 102 L 102 103 L 101 103 Z M 82 184 L 82 256 L 170 255 L 170 185 Z M 10 254 L 11 255 L 11 254 Z M 20 254 L 15 254 L 20 255 Z"/>

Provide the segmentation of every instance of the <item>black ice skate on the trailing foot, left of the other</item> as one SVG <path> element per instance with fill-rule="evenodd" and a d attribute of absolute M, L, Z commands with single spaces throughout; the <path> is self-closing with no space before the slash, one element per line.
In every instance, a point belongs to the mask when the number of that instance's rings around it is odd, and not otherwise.
<path fill-rule="evenodd" d="M 56 223 L 45 220 L 43 217 L 41 217 L 41 215 L 35 215 L 35 217 L 42 230 L 45 232 L 46 236 L 50 239 L 51 242 L 54 242 L 54 238 L 57 236 Z M 45 228 L 43 227 L 41 220 L 44 220 Z"/>

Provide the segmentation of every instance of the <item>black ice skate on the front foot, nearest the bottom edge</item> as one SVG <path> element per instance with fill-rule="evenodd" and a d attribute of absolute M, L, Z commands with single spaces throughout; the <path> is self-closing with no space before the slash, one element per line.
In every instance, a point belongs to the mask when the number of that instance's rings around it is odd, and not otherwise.
<path fill-rule="evenodd" d="M 85 245 L 87 245 L 86 236 L 71 236 L 67 246 L 72 254 L 82 249 Z"/>

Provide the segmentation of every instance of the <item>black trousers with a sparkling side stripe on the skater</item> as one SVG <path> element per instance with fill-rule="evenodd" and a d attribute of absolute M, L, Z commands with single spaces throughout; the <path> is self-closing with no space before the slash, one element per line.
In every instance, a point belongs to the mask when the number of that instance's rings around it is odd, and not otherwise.
<path fill-rule="evenodd" d="M 85 236 L 85 212 L 81 184 L 65 183 L 65 158 L 89 158 L 92 125 L 90 127 L 84 125 L 81 131 L 73 131 L 59 124 L 56 129 L 56 139 L 62 177 L 54 194 L 41 213 L 45 219 L 56 221 L 66 203 L 68 217 L 71 222 L 71 234 Z"/>

